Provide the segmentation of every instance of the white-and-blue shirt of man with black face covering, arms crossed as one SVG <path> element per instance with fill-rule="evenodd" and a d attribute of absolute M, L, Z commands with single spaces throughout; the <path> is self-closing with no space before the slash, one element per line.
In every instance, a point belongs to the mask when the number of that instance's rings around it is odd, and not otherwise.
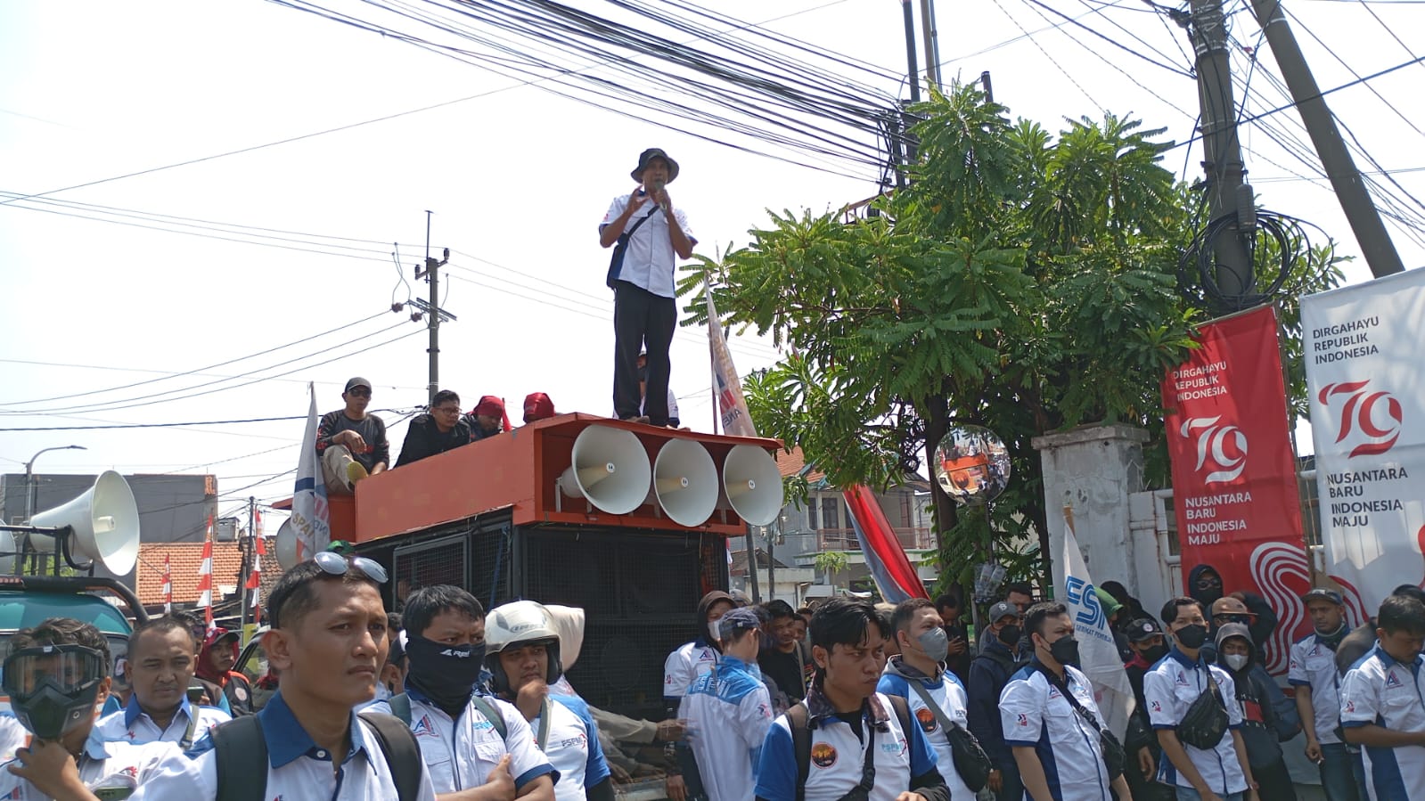
<path fill-rule="evenodd" d="M 504 740 L 473 703 L 466 703 L 459 720 L 435 706 L 419 690 L 406 688 L 410 698 L 410 733 L 416 735 L 420 755 L 430 770 L 436 792 L 456 792 L 484 784 L 504 754 L 510 755 L 514 787 L 549 774 L 559 784 L 559 772 L 534 745 L 534 733 L 514 704 L 483 698 L 504 718 Z"/>

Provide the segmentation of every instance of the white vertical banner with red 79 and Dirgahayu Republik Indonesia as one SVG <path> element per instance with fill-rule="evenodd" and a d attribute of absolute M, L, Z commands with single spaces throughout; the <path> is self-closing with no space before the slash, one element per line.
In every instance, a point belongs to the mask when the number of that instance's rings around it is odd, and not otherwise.
<path fill-rule="evenodd" d="M 1425 586 L 1425 269 L 1301 299 L 1327 574 L 1355 620 Z"/>

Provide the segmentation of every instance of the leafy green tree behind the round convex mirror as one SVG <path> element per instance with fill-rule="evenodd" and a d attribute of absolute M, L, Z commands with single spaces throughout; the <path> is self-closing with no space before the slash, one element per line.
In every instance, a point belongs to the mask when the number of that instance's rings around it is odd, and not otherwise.
<path fill-rule="evenodd" d="M 958 513 L 932 482 L 942 580 L 1019 537 L 1039 540 L 1047 576 L 1030 439 L 1121 420 L 1161 440 L 1160 382 L 1206 316 L 1177 288 L 1198 198 L 1160 165 L 1163 131 L 1134 120 L 1053 137 L 973 87 L 912 111 L 919 161 L 879 215 L 771 214 L 680 294 L 715 279 L 724 324 L 787 348 L 745 386 L 752 418 L 834 486 L 903 479 L 955 425 L 995 430 L 1015 477 L 992 509 Z M 687 311 L 705 321 L 701 292 Z"/>

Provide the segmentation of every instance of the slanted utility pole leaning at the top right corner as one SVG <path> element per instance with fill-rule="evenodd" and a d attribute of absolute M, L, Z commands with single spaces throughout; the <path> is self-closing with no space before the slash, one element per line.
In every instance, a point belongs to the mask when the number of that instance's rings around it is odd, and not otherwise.
<path fill-rule="evenodd" d="M 1271 53 L 1277 58 L 1277 67 L 1281 68 L 1281 77 L 1285 78 L 1287 88 L 1291 90 L 1291 100 L 1295 101 L 1301 121 L 1307 125 L 1307 133 L 1311 134 L 1311 144 L 1317 148 L 1321 167 L 1325 168 L 1327 178 L 1331 180 L 1331 188 L 1335 191 L 1337 200 L 1341 201 L 1341 211 L 1345 212 L 1347 222 L 1351 224 L 1351 231 L 1355 234 L 1357 245 L 1359 245 L 1371 274 L 1381 278 L 1405 272 L 1401 255 L 1395 252 L 1391 235 L 1371 201 L 1371 194 L 1365 190 L 1361 171 L 1355 168 L 1351 151 L 1341 140 L 1335 117 L 1331 115 L 1331 108 L 1321 97 L 1321 90 L 1317 87 L 1311 68 L 1307 67 L 1305 57 L 1301 56 L 1297 37 L 1291 34 L 1281 0 L 1251 0 L 1251 6 L 1263 33 L 1267 34 L 1267 43 L 1271 44 Z"/>

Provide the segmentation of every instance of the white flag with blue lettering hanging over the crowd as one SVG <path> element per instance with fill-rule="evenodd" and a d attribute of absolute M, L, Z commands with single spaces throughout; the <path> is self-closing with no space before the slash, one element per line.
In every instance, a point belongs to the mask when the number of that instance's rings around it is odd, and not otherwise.
<path fill-rule="evenodd" d="M 1104 717 L 1102 723 L 1113 730 L 1119 743 L 1123 743 L 1123 734 L 1129 728 L 1129 715 L 1133 714 L 1133 707 L 1137 703 L 1133 698 L 1129 674 L 1123 670 L 1119 647 L 1113 643 L 1109 616 L 1099 603 L 1099 596 L 1093 591 L 1094 583 L 1089 577 L 1089 567 L 1079 550 L 1079 537 L 1073 533 L 1073 524 L 1064 526 L 1062 567 L 1064 587 L 1060 597 L 1069 607 L 1074 636 L 1079 639 L 1079 670 L 1093 683 L 1093 700 Z M 1130 767 L 1136 764 L 1133 760 L 1129 761 Z"/>

